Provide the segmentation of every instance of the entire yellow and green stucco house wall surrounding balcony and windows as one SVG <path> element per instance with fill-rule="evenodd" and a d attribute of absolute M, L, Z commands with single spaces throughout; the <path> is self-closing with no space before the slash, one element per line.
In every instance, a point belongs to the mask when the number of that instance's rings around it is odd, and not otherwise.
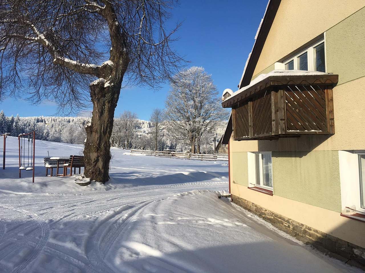
<path fill-rule="evenodd" d="M 282 0 L 254 71 L 253 79 L 273 70 L 275 62 L 324 33 L 326 69 L 339 75 L 333 89 L 335 134 L 230 139 L 232 194 L 362 248 L 364 223 L 340 215 L 341 189 L 348 183 L 340 172 L 339 151 L 365 150 L 364 5 L 363 0 Z M 298 20 L 303 15 L 305 23 Z M 273 196 L 248 188 L 254 175 L 247 158 L 255 151 L 272 151 Z"/>

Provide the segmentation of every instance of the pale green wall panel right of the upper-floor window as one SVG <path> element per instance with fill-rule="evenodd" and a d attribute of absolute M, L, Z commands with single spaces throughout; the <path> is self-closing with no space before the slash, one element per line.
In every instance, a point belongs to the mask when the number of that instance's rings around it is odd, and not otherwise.
<path fill-rule="evenodd" d="M 338 84 L 365 76 L 365 7 L 326 31 L 327 71 Z"/>

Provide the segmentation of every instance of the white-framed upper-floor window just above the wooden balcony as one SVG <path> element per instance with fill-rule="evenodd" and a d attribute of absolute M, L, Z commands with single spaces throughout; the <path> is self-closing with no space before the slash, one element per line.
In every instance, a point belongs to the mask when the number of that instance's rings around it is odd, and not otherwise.
<path fill-rule="evenodd" d="M 320 72 L 326 72 L 325 63 L 324 41 L 313 44 L 284 62 L 286 70 L 295 69 Z"/>

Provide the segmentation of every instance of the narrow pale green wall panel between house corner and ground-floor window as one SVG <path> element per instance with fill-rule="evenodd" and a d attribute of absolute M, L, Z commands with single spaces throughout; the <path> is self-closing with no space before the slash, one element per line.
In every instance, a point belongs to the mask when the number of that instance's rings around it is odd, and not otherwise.
<path fill-rule="evenodd" d="M 231 153 L 231 181 L 248 187 L 248 165 L 247 165 L 247 153 L 235 152 Z"/>

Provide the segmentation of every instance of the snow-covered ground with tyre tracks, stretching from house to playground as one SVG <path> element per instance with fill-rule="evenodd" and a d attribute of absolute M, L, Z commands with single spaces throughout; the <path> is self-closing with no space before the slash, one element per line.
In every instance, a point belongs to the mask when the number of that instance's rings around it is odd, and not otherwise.
<path fill-rule="evenodd" d="M 2 142 L 0 142 L 2 147 Z M 0 272 L 362 272 L 304 246 L 219 194 L 223 162 L 112 149 L 107 185 L 45 177 L 43 157 L 80 145 L 36 142 L 18 178 L 18 140 L 0 170 Z"/>

